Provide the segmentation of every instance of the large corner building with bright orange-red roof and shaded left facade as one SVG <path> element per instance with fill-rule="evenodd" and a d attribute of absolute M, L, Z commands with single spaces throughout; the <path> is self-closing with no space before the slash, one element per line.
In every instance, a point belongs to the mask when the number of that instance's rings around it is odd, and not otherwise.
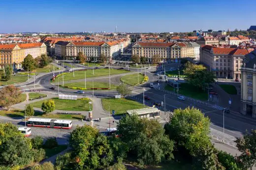
<path fill-rule="evenodd" d="M 216 74 L 217 78 L 241 78 L 240 68 L 247 49 L 217 48 L 203 46 L 200 48 L 200 62 Z"/>

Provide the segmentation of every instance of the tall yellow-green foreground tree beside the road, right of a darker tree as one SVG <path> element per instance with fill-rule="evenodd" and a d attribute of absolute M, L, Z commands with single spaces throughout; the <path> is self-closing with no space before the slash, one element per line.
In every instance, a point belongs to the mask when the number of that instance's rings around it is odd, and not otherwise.
<path fill-rule="evenodd" d="M 184 110 L 176 109 L 165 129 L 177 148 L 183 151 L 180 153 L 192 156 L 196 168 L 222 168 L 218 162 L 217 151 L 210 141 L 210 120 L 205 118 L 201 111 L 189 107 Z"/>

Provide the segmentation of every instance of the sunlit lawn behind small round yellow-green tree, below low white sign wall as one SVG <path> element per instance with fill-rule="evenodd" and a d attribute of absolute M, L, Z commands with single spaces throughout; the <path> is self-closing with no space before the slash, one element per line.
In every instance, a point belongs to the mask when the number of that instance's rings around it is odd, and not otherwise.
<path fill-rule="evenodd" d="M 55 109 L 57 110 L 89 111 L 89 100 L 81 100 L 81 99 L 65 100 L 65 99 L 58 99 L 58 98 L 52 98 L 52 99 L 55 102 Z M 31 103 L 31 105 L 33 107 L 41 108 L 42 103 L 46 100 L 40 100 L 40 101 Z"/>

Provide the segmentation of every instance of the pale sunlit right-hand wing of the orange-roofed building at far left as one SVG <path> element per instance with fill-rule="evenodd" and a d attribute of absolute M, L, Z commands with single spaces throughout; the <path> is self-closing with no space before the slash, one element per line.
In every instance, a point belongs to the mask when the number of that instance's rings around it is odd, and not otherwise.
<path fill-rule="evenodd" d="M 21 49 L 24 49 L 25 56 L 32 55 L 33 58 L 47 54 L 46 45 L 44 43 L 26 43 L 18 44 Z"/>

